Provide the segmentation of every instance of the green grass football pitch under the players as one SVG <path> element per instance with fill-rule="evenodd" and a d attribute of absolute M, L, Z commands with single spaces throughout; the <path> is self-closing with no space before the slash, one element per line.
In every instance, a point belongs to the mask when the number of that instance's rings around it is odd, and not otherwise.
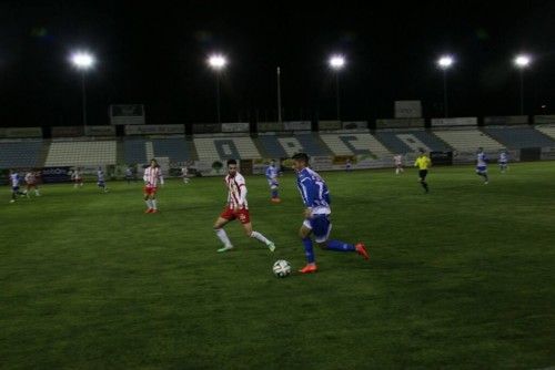
<path fill-rule="evenodd" d="M 303 206 L 245 176 L 254 229 L 212 225 L 222 177 L 178 179 L 144 214 L 142 184 L 42 186 L 0 203 L 2 369 L 542 369 L 555 366 L 555 163 L 322 173 L 332 238 L 371 254 L 316 250 L 304 266 Z"/>

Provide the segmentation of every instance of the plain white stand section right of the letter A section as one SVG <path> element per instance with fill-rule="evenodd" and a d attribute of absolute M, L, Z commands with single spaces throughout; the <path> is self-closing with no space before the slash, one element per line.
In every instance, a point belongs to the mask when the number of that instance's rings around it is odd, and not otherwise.
<path fill-rule="evenodd" d="M 480 146 L 485 151 L 498 151 L 504 147 L 503 144 L 477 129 L 438 130 L 433 133 L 460 152 L 475 151 Z"/>

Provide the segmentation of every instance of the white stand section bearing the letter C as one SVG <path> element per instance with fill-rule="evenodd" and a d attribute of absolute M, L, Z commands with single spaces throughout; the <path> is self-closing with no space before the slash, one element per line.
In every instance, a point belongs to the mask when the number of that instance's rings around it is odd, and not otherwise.
<path fill-rule="evenodd" d="M 373 155 L 389 157 L 392 153 L 370 133 L 321 134 L 335 155 Z"/>

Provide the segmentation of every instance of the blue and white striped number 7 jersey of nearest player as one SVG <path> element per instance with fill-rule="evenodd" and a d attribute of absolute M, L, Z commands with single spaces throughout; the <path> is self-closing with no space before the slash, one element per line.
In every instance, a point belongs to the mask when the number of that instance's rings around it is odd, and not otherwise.
<path fill-rule="evenodd" d="M 296 186 L 301 192 L 304 206 L 312 208 L 313 215 L 331 214 L 331 199 L 327 185 L 320 175 L 311 168 L 303 168 L 296 174 Z"/>

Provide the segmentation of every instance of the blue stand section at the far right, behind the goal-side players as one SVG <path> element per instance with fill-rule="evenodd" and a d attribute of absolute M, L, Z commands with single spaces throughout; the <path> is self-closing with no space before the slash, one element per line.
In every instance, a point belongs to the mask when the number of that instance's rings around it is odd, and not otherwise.
<path fill-rule="evenodd" d="M 531 127 L 485 127 L 484 131 L 513 150 L 555 146 L 555 141 Z"/>

